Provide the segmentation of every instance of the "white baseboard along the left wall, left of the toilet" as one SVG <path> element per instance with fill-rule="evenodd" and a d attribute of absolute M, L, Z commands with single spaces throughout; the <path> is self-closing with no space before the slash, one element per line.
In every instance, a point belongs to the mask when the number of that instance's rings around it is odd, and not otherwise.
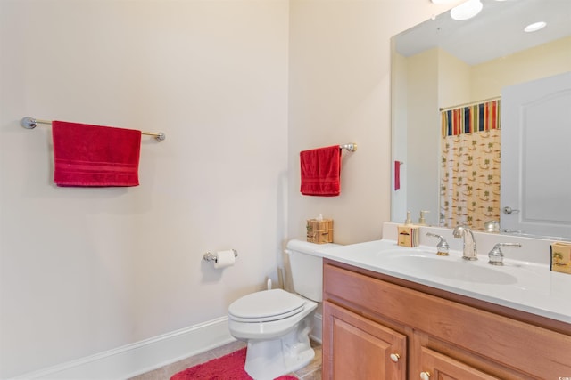
<path fill-rule="evenodd" d="M 12 380 L 128 379 L 234 341 L 236 339 L 228 332 L 228 317 L 223 317 L 13 377 Z"/>

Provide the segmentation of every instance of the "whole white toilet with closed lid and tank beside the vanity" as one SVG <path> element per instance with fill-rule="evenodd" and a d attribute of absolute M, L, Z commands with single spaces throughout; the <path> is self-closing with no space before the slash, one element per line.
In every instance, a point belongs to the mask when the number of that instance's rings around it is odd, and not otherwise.
<path fill-rule="evenodd" d="M 244 369 L 255 380 L 293 372 L 315 356 L 309 335 L 323 288 L 323 259 L 315 251 L 334 246 L 290 240 L 285 253 L 296 294 L 264 290 L 230 304 L 228 328 L 232 336 L 248 343 Z"/>

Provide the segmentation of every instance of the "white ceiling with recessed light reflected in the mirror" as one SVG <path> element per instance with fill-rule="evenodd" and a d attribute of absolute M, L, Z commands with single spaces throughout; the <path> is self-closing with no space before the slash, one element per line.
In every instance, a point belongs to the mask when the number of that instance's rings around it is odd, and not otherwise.
<path fill-rule="evenodd" d="M 570 0 L 485 0 L 483 4 L 473 19 L 452 20 L 446 12 L 395 36 L 397 52 L 409 57 L 440 46 L 476 65 L 571 34 Z M 526 26 L 539 21 L 547 26 L 525 33 Z M 500 37 L 501 44 L 495 43 Z"/>

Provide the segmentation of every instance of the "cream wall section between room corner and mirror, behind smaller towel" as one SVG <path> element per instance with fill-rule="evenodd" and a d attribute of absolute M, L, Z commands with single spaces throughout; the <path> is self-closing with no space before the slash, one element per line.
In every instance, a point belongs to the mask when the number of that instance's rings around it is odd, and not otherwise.
<path fill-rule="evenodd" d="M 335 242 L 379 239 L 390 218 L 391 36 L 443 7 L 422 0 L 290 2 L 289 217 L 303 237 L 306 219 L 334 220 Z M 343 151 L 341 195 L 302 196 L 299 152 L 357 142 Z"/>

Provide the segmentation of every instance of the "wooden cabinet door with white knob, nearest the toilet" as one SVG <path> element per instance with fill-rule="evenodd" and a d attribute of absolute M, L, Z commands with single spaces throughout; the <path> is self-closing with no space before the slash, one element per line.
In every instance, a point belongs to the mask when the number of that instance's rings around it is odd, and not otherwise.
<path fill-rule="evenodd" d="M 323 303 L 323 378 L 405 380 L 407 336 Z"/>

